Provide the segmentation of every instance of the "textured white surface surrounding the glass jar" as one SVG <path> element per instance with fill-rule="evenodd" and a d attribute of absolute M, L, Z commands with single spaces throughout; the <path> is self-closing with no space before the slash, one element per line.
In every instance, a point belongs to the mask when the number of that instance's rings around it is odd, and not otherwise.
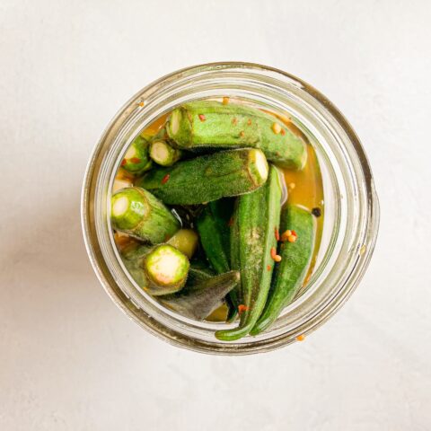
<path fill-rule="evenodd" d="M 0 429 L 428 430 L 431 7 L 420 1 L 0 2 Z M 212 357 L 110 303 L 79 221 L 92 146 L 161 75 L 276 66 L 334 101 L 382 205 L 361 286 L 303 343 Z"/>

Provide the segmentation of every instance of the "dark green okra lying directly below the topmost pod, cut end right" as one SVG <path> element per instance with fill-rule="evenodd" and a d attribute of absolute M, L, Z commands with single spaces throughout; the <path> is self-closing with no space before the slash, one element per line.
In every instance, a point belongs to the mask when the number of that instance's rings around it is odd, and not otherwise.
<path fill-rule="evenodd" d="M 154 168 L 136 181 L 170 205 L 193 205 L 249 193 L 265 183 L 268 163 L 257 149 L 202 155 Z"/>

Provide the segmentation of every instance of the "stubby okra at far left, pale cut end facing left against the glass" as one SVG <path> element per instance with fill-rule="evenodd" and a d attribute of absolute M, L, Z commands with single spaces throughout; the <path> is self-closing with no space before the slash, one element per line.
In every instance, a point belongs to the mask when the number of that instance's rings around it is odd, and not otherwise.
<path fill-rule="evenodd" d="M 138 187 L 120 189 L 112 196 L 110 218 L 114 229 L 152 243 L 167 241 L 180 229 L 172 212 Z"/>

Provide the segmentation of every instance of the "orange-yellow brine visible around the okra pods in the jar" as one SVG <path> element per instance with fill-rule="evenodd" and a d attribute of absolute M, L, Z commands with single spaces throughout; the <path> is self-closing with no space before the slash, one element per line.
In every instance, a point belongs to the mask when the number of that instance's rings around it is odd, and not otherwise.
<path fill-rule="evenodd" d="M 307 277 L 305 277 L 303 283 L 303 289 L 306 287 L 307 282 L 312 276 L 312 271 L 316 264 L 316 260 L 319 254 L 319 248 L 321 245 L 321 234 L 323 232 L 323 182 L 321 178 L 321 169 L 319 167 L 319 161 L 317 159 L 316 152 L 314 148 L 309 143 L 307 137 L 303 135 L 300 128 L 297 128 L 290 118 L 284 115 L 277 115 L 273 112 L 266 110 L 266 112 L 276 115 L 278 119 L 283 121 L 287 128 L 289 128 L 295 135 L 303 138 L 303 142 L 307 147 L 307 163 L 305 164 L 302 171 L 288 171 L 282 170 L 284 172 L 286 187 L 288 191 L 287 202 L 293 205 L 300 205 L 302 207 L 308 208 L 312 211 L 313 208 L 319 208 L 321 211 L 321 216 L 316 217 L 316 241 L 314 244 L 314 251 L 312 255 L 312 261 L 310 263 L 310 268 L 308 270 Z M 163 115 L 161 118 L 156 119 L 152 124 L 150 124 L 143 134 L 147 136 L 154 136 L 160 128 L 163 127 L 169 114 Z M 114 182 L 114 189 L 121 189 L 127 187 L 127 184 L 132 185 L 133 179 L 128 175 L 127 172 L 119 168 L 116 176 L 116 181 Z M 121 250 L 125 244 L 129 241 L 136 241 L 128 238 L 127 235 L 116 233 L 114 235 L 114 240 Z M 299 292 L 299 294 L 303 291 Z M 227 306 L 224 304 L 212 312 L 208 317 L 207 321 L 225 321 L 227 317 Z"/>

